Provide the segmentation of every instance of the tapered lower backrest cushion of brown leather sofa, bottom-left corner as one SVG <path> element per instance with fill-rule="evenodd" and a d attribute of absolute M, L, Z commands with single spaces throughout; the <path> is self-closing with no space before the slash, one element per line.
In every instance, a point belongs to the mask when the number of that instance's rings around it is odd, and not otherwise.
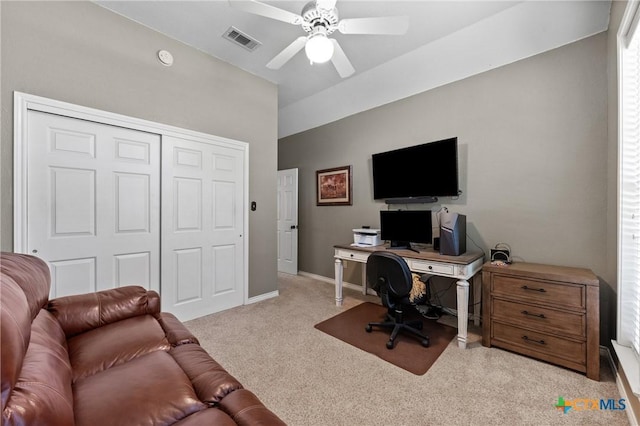
<path fill-rule="evenodd" d="M 74 424 L 66 339 L 60 324 L 46 310 L 33 321 L 20 376 L 2 415 L 3 425 Z"/>

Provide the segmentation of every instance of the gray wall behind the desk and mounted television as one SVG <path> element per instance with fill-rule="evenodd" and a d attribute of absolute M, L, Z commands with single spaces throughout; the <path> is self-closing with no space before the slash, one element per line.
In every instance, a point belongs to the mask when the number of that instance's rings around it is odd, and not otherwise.
<path fill-rule="evenodd" d="M 603 33 L 281 139 L 278 168 L 299 168 L 299 269 L 333 277 L 332 246 L 351 241 L 352 228 L 378 227 L 386 205 L 373 200 L 371 154 L 457 136 L 463 195 L 421 207 L 466 214 L 487 254 L 506 242 L 519 260 L 587 267 L 611 282 L 607 90 Z M 353 206 L 317 207 L 315 171 L 348 164 Z M 345 271 L 359 277 L 358 266 Z"/>

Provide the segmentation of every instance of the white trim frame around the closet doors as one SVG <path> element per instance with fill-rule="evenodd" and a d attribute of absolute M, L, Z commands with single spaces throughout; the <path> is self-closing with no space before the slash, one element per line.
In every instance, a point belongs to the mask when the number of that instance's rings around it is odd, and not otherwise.
<path fill-rule="evenodd" d="M 27 111 L 41 111 L 96 123 L 125 127 L 161 136 L 189 138 L 197 142 L 215 143 L 228 146 L 244 152 L 244 304 L 249 303 L 249 144 L 242 141 L 223 138 L 182 129 L 168 124 L 156 123 L 113 112 L 102 111 L 81 105 L 75 105 L 41 96 L 14 92 L 13 95 L 13 250 L 16 253 L 26 253 L 27 250 Z"/>

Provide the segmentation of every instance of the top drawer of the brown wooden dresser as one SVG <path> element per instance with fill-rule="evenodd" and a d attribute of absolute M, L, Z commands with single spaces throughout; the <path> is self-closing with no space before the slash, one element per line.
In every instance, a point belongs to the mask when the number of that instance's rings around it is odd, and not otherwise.
<path fill-rule="evenodd" d="M 554 284 L 548 281 L 493 275 L 491 291 L 495 295 L 505 295 L 522 301 L 541 303 L 558 307 L 584 309 L 584 286 Z"/>

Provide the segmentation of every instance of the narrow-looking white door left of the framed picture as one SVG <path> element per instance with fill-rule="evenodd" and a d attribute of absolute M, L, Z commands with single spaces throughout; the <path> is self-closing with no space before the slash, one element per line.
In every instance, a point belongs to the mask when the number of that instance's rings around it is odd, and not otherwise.
<path fill-rule="evenodd" d="M 278 271 L 298 273 L 298 169 L 278 171 Z"/>

